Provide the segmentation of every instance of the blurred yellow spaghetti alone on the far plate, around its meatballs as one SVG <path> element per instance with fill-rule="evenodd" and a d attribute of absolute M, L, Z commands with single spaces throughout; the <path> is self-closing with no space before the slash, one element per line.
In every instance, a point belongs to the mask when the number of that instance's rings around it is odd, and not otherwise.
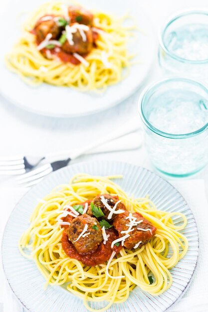
<path fill-rule="evenodd" d="M 21 39 L 6 55 L 7 67 L 30 85 L 45 82 L 82 91 L 103 90 L 126 77 L 133 57 L 128 52 L 127 43 L 134 27 L 123 26 L 125 17 L 116 18 L 103 12 L 93 12 L 92 30 L 97 34 L 97 39 L 87 55 L 73 53 L 73 61 L 75 56 L 79 64 L 64 61 L 66 54 L 54 52 L 60 49 L 59 43 L 55 49 L 45 51 L 46 56 L 37 49 L 32 32 L 35 23 L 46 15 L 65 16 L 66 10 L 62 2 L 41 5 L 25 23 Z"/>

